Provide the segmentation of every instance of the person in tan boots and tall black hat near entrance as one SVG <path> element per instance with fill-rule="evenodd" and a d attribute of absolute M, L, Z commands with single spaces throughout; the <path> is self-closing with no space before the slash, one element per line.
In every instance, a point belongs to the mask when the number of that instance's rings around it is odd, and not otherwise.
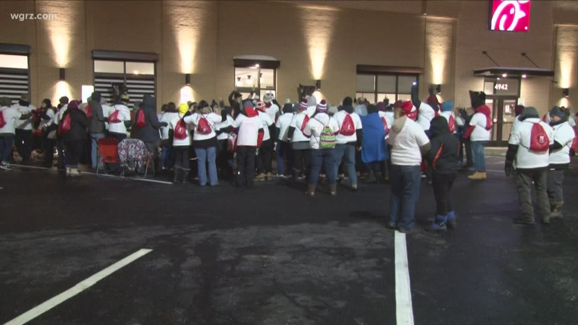
<path fill-rule="evenodd" d="M 469 139 L 472 147 L 474 173 L 468 179 L 484 180 L 487 178 L 484 148 L 492 136 L 492 113 L 486 106 L 486 94 L 483 91 L 470 91 L 470 99 L 475 113 L 469 121 L 464 138 Z"/>

